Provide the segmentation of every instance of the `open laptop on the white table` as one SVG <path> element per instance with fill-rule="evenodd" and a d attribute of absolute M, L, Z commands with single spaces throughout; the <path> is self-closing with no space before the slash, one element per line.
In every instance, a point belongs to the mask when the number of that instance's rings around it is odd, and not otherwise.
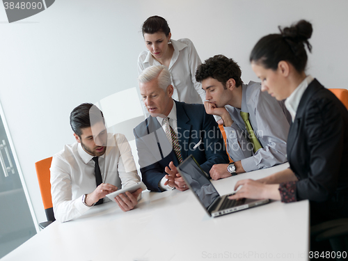
<path fill-rule="evenodd" d="M 232 196 L 234 193 L 220 196 L 212 182 L 207 178 L 207 173 L 200 168 L 200 165 L 192 155 L 177 166 L 177 171 L 182 175 L 187 186 L 189 186 L 209 216 L 222 216 L 269 203 L 269 199 L 228 199 L 228 196 Z"/>

